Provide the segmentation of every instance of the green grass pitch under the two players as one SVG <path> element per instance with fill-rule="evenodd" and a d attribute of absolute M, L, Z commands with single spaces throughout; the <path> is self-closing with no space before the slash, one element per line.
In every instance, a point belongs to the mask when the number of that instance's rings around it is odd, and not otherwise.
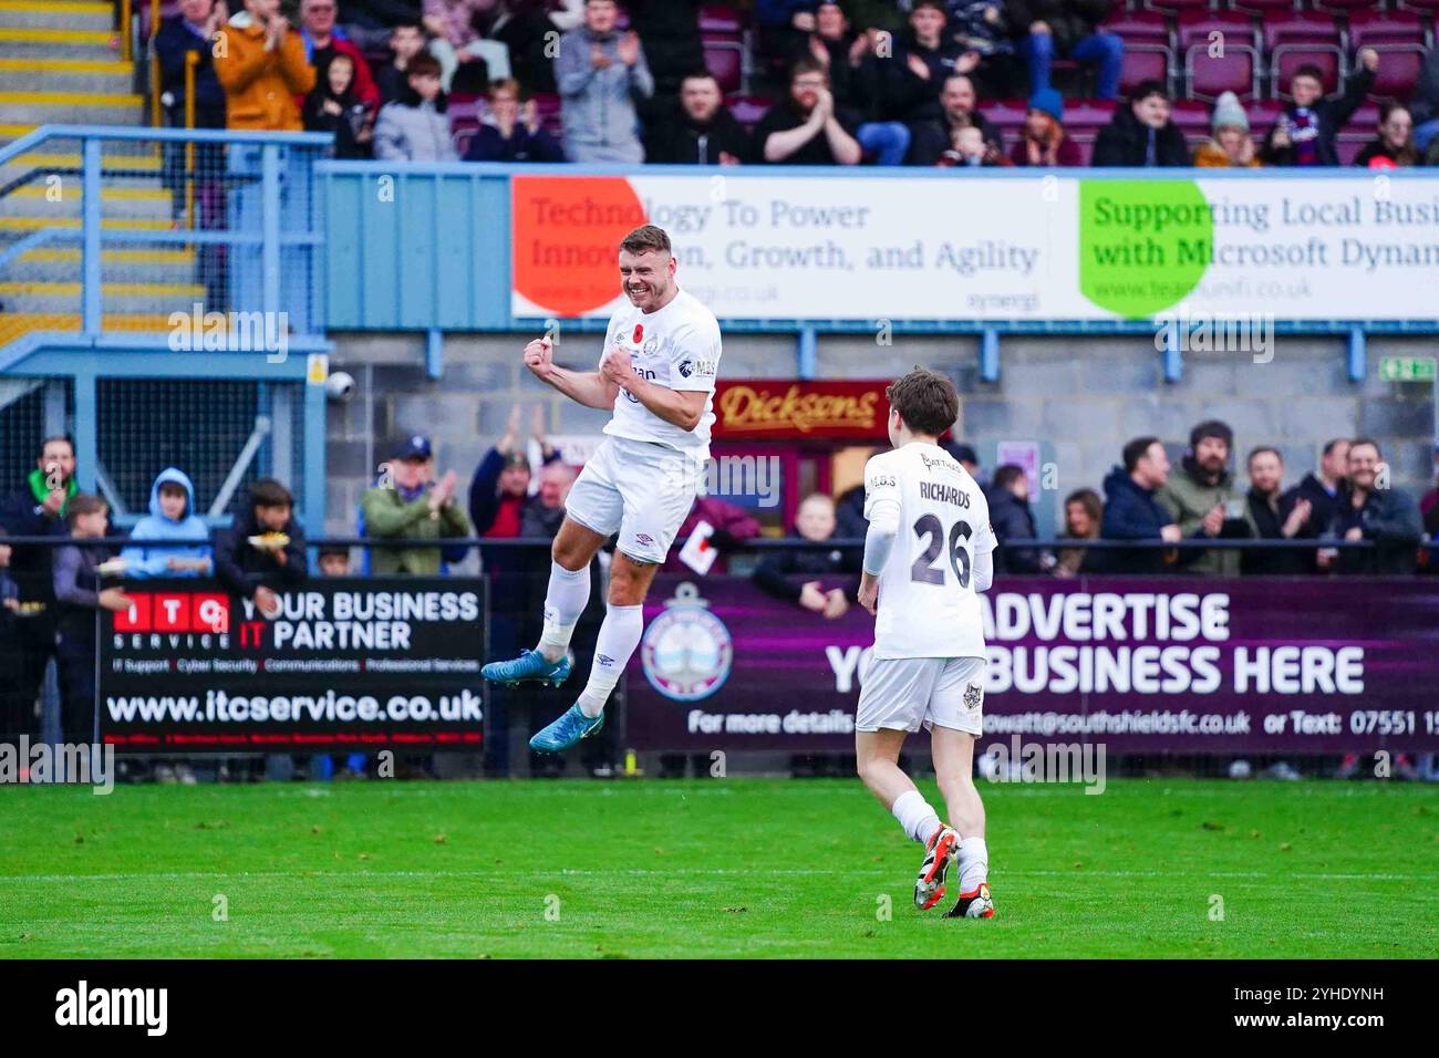
<path fill-rule="evenodd" d="M 932 783 L 921 789 L 938 803 Z M 991 921 L 914 910 L 920 848 L 858 780 L 10 787 L 0 956 L 1439 950 L 1432 786 L 981 790 Z"/>

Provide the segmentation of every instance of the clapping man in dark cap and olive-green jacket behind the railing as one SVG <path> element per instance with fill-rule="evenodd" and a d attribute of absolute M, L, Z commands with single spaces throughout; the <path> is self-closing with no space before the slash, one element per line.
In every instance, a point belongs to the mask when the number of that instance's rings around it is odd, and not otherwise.
<path fill-rule="evenodd" d="M 361 497 L 364 534 L 378 540 L 445 540 L 468 537 L 469 520 L 455 502 L 455 471 L 435 481 L 435 453 L 419 433 L 393 446 L 380 484 Z M 440 571 L 439 547 L 376 547 L 370 571 L 435 576 Z"/>

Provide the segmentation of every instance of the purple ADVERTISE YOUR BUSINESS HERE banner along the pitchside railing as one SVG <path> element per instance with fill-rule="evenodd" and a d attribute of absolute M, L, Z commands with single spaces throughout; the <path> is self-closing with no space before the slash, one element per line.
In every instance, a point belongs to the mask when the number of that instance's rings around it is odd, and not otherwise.
<path fill-rule="evenodd" d="M 1439 584 L 1013 577 L 981 600 L 981 746 L 1439 749 Z M 645 618 L 626 684 L 635 749 L 853 751 L 873 643 L 858 606 L 826 620 L 745 579 L 662 576 Z"/>

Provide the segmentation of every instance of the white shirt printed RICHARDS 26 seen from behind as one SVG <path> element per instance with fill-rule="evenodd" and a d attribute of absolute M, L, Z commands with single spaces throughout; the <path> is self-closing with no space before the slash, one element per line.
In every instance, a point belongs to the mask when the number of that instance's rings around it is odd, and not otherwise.
<path fill-rule="evenodd" d="M 974 556 L 994 550 L 989 501 L 938 445 L 911 442 L 865 465 L 865 517 L 899 504 L 899 533 L 879 570 L 875 658 L 983 658 Z"/>

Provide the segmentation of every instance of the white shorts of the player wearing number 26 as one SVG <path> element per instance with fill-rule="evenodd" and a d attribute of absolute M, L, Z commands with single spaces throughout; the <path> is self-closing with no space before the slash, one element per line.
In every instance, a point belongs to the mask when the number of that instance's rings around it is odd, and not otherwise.
<path fill-rule="evenodd" d="M 935 724 L 984 733 L 984 658 L 872 658 L 855 728 L 918 731 Z"/>

